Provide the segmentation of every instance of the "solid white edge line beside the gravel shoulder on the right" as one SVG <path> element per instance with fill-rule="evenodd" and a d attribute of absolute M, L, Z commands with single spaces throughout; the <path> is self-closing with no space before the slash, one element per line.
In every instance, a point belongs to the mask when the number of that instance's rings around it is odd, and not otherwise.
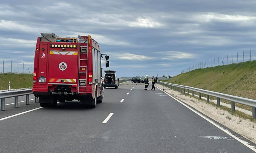
<path fill-rule="evenodd" d="M 156 86 L 156 88 L 158 88 Z M 158 88 L 159 90 L 161 90 L 160 88 Z M 163 90 L 161 90 L 163 91 Z M 242 143 L 243 145 L 245 145 L 246 147 L 252 149 L 252 151 L 256 152 L 256 149 L 250 145 L 248 145 L 247 143 L 245 143 L 244 141 L 242 141 L 241 139 L 239 139 L 238 137 L 232 135 L 232 133 L 230 133 L 229 131 L 225 130 L 224 128 L 222 128 L 222 126 L 219 126 L 218 124 L 212 122 L 211 120 L 209 120 L 208 118 L 206 118 L 205 116 L 203 116 L 202 114 L 198 113 L 196 110 L 194 110 L 193 108 L 191 108 L 190 106 L 184 104 L 184 102 L 178 100 L 177 98 L 175 98 L 174 96 L 168 94 L 167 92 L 164 91 L 164 93 L 166 93 L 167 95 L 169 95 L 170 97 L 172 97 L 174 100 L 176 100 L 177 102 L 179 102 L 180 104 L 184 105 L 186 108 L 190 109 L 192 112 L 198 114 L 200 117 L 202 117 L 203 119 L 205 119 L 206 121 L 210 122 L 211 124 L 213 124 L 214 126 L 216 126 L 217 128 L 221 129 L 222 131 L 224 131 L 225 133 L 227 133 L 228 135 L 230 135 L 231 137 L 233 137 L 234 139 L 236 139 L 237 141 L 239 141 L 240 143 Z"/>

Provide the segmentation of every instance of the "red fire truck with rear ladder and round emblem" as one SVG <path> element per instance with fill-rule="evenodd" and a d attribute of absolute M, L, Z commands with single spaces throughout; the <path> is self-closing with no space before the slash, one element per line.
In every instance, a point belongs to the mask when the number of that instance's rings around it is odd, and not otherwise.
<path fill-rule="evenodd" d="M 102 66 L 100 46 L 89 36 L 58 37 L 41 33 L 37 38 L 34 58 L 33 93 L 42 107 L 57 102 L 79 100 L 96 107 L 102 103 Z M 106 67 L 109 57 L 105 55 Z M 106 68 L 104 67 L 104 68 Z"/>

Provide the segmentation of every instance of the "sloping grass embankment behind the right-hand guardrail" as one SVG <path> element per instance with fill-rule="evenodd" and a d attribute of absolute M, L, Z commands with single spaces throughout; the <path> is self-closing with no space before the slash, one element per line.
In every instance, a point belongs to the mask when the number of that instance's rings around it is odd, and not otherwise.
<path fill-rule="evenodd" d="M 182 73 L 170 80 L 164 80 L 173 84 L 192 86 L 195 88 L 221 92 L 244 98 L 256 99 L 256 61 L 230 64 L 224 66 L 197 69 L 188 73 Z M 197 93 L 195 93 L 197 94 Z M 202 96 L 206 97 L 202 94 Z M 216 97 L 210 97 L 216 99 Z M 221 99 L 222 102 L 229 103 Z M 250 106 L 235 104 L 237 107 L 250 110 Z"/>

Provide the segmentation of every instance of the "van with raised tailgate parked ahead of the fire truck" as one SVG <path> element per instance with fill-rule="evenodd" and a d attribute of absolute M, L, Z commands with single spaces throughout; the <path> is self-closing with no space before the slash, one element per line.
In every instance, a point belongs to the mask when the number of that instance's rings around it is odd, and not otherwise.
<path fill-rule="evenodd" d="M 119 84 L 118 84 L 119 80 L 116 77 L 116 71 L 106 70 L 104 72 L 105 72 L 105 75 L 103 78 L 104 88 L 106 88 L 106 86 L 108 86 L 108 87 L 115 87 L 117 89 L 119 86 Z"/>

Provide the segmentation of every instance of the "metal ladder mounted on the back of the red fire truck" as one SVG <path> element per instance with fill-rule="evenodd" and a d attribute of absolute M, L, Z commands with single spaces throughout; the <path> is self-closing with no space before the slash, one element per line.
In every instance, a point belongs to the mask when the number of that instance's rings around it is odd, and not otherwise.
<path fill-rule="evenodd" d="M 78 74 L 78 94 L 86 94 L 86 90 L 87 90 L 87 86 L 86 86 L 86 82 L 87 82 L 87 66 L 88 66 L 88 37 L 86 39 L 86 37 L 82 37 L 80 35 L 78 35 L 79 43 L 80 43 L 80 53 L 79 53 L 79 74 Z M 81 43 L 87 43 L 86 46 L 82 46 Z M 84 55 L 86 55 L 86 59 L 84 59 Z M 86 61 L 86 66 L 84 65 Z M 81 78 L 82 77 L 82 78 Z M 85 92 L 81 92 L 81 88 L 85 88 Z"/>

